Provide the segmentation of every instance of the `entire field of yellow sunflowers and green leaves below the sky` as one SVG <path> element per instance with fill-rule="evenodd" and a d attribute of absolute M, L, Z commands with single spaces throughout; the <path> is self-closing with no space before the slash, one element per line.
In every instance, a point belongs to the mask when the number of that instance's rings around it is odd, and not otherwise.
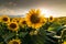
<path fill-rule="evenodd" d="M 38 9 L 24 18 L 0 15 L 0 44 L 66 44 L 66 18 L 45 18 Z"/>

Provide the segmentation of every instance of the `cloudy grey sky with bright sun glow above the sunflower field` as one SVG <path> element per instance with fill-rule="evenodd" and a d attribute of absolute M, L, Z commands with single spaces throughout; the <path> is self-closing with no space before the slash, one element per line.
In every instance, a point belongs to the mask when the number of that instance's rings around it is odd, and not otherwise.
<path fill-rule="evenodd" d="M 45 16 L 66 16 L 66 0 L 0 0 L 0 14 L 25 15 L 31 9 Z"/>

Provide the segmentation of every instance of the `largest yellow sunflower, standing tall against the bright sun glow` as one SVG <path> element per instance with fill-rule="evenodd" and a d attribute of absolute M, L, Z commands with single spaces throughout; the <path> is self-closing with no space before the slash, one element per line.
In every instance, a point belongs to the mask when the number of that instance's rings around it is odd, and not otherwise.
<path fill-rule="evenodd" d="M 44 22 L 44 18 L 41 16 L 40 10 L 34 10 L 34 9 L 29 11 L 25 19 L 28 26 L 31 26 L 33 29 L 41 28 Z"/>

